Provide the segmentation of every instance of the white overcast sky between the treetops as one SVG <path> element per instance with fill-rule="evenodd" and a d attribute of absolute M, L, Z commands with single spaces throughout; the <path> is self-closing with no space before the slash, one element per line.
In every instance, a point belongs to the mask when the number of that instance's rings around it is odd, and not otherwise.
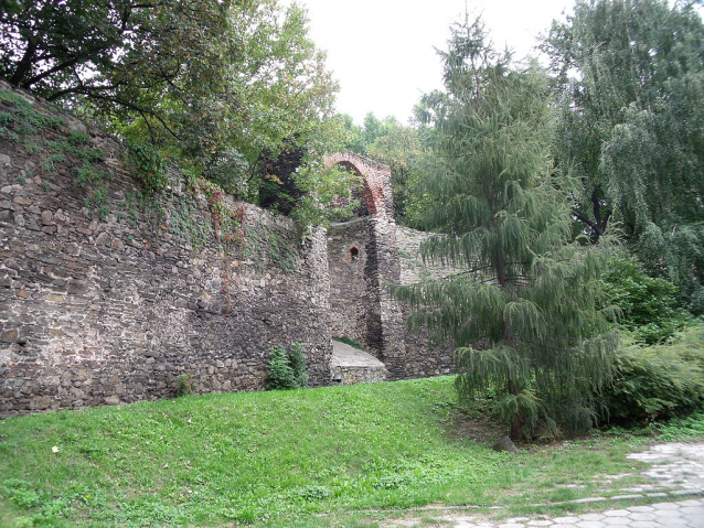
<path fill-rule="evenodd" d="M 308 8 L 310 36 L 328 52 L 340 82 L 338 111 L 361 125 L 373 111 L 406 122 L 423 93 L 441 87 L 435 49 L 445 50 L 452 22 L 482 14 L 497 47 L 532 52 L 573 0 L 297 0 Z M 285 0 L 285 3 L 286 2 Z"/>

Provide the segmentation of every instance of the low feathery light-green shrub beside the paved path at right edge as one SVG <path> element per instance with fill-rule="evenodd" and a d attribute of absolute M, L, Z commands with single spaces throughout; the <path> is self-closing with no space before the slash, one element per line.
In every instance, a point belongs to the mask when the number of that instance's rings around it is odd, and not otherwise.
<path fill-rule="evenodd" d="M 610 420 L 643 423 L 683 416 L 704 406 L 704 324 L 673 343 L 626 344 L 617 353 L 614 385 L 606 391 Z"/>

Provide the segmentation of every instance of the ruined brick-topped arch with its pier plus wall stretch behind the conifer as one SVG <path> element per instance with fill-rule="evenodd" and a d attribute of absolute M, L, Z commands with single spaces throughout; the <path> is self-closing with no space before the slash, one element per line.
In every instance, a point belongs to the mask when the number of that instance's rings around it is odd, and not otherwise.
<path fill-rule="evenodd" d="M 417 258 L 418 245 L 427 237 L 396 226 L 388 166 L 349 152 L 327 161 L 363 176 L 363 190 L 358 194 L 364 202 L 362 211 L 369 212 L 369 216 L 329 228 L 333 335 L 365 345 L 384 363 L 391 379 L 448 374 L 449 354 L 430 348 L 425 336 L 406 330 L 407 310 L 385 287 L 418 280 L 425 269 Z"/>

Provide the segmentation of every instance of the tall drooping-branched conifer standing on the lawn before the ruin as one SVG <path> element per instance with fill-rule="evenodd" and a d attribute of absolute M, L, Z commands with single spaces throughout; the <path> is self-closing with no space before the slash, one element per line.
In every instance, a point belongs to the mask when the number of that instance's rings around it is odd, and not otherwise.
<path fill-rule="evenodd" d="M 551 172 L 545 74 L 486 43 L 480 22 L 440 53 L 446 91 L 424 97 L 437 130 L 422 254 L 458 272 L 397 287 L 410 326 L 449 341 L 461 398 L 492 389 L 513 439 L 585 430 L 616 346 L 599 311 L 602 247 L 572 240 L 567 192 Z"/>

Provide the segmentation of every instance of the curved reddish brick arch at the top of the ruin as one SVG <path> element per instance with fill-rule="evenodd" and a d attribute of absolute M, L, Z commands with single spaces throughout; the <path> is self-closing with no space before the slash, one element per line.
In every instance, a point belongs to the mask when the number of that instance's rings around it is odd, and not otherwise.
<path fill-rule="evenodd" d="M 372 217 L 393 218 L 394 203 L 391 169 L 354 152 L 338 152 L 326 157 L 326 165 L 342 165 L 363 177 L 362 196 Z"/>

